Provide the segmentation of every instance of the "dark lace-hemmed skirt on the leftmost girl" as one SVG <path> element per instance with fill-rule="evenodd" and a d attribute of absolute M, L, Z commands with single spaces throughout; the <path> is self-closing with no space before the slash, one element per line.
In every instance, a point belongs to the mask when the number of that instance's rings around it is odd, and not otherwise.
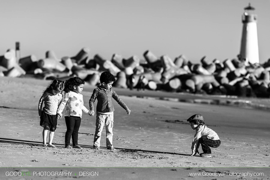
<path fill-rule="evenodd" d="M 50 115 L 42 111 L 40 116 L 40 125 L 49 131 L 55 131 L 57 125 L 57 115 Z"/>

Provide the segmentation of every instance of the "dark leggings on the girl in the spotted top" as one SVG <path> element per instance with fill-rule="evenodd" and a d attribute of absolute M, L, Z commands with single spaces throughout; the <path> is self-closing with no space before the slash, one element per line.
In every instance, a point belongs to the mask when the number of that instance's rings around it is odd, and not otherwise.
<path fill-rule="evenodd" d="M 78 144 L 78 131 L 81 125 L 81 118 L 77 116 L 65 116 L 67 132 L 65 135 L 65 144 L 70 145 L 70 137 L 72 136 L 72 144 Z"/>

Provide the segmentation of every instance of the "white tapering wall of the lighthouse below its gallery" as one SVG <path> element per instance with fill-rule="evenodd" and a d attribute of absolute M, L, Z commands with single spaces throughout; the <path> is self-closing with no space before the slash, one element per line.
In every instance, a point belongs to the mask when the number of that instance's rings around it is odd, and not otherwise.
<path fill-rule="evenodd" d="M 247 58 L 247 60 L 252 64 L 259 63 L 256 22 L 248 22 L 243 24 L 240 54 L 242 58 Z"/>

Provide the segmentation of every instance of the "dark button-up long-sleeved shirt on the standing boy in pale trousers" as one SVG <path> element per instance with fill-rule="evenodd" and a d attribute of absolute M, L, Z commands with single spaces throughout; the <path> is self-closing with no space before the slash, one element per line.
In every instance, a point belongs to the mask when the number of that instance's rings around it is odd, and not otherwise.
<path fill-rule="evenodd" d="M 94 89 L 93 94 L 89 100 L 90 110 L 94 110 L 94 102 L 98 99 L 97 112 L 100 113 L 109 113 L 114 111 L 113 99 L 124 108 L 128 110 L 128 106 L 123 102 L 123 100 L 116 94 L 113 88 L 102 89 L 101 86 L 98 86 Z"/>

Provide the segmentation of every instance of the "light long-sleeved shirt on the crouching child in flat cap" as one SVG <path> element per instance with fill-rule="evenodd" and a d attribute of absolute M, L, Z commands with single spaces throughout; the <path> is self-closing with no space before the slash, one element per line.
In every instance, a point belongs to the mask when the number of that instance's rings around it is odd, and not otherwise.
<path fill-rule="evenodd" d="M 196 133 L 194 135 L 194 139 L 192 141 L 192 146 L 191 149 L 195 150 L 196 147 L 198 146 L 198 141 L 199 138 L 201 137 L 207 137 L 208 139 L 211 140 L 219 140 L 219 137 L 215 131 L 212 129 L 206 127 L 206 125 L 199 125 L 196 129 Z"/>

